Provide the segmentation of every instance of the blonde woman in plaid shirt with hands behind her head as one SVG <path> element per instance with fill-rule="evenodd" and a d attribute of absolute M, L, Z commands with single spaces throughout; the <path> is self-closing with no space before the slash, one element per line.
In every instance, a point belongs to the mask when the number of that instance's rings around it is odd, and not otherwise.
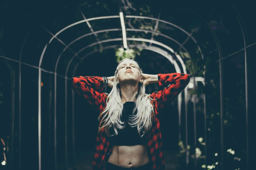
<path fill-rule="evenodd" d="M 189 80 L 181 73 L 143 74 L 132 59 L 123 59 L 113 77 L 73 78 L 73 89 L 100 112 L 92 170 L 165 169 L 159 117 Z M 164 89 L 146 94 L 150 83 Z"/>

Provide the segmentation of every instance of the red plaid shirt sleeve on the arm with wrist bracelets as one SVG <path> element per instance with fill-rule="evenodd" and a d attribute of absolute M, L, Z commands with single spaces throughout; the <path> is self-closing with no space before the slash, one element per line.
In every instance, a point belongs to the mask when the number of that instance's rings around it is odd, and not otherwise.
<path fill-rule="evenodd" d="M 78 76 L 72 78 L 72 81 L 73 90 L 85 97 L 94 109 L 100 110 L 104 106 L 107 95 L 103 92 L 104 82 L 101 77 Z"/>

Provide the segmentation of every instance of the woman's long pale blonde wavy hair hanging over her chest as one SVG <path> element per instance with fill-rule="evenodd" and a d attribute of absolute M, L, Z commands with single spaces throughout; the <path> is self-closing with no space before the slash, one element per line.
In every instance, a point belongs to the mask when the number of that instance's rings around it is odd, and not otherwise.
<path fill-rule="evenodd" d="M 104 111 L 100 114 L 98 117 L 98 120 L 100 121 L 99 124 L 99 131 L 105 130 L 106 134 L 108 136 L 113 136 L 109 133 L 109 130 L 111 127 L 114 129 L 114 135 L 118 135 L 118 129 L 125 128 L 125 122 L 121 121 L 121 115 L 123 110 L 123 102 L 121 100 L 122 94 L 120 90 L 120 84 L 117 83 L 118 80 L 118 68 L 119 65 L 126 60 L 132 60 L 136 62 L 133 59 L 123 59 L 117 66 L 115 71 L 115 77 L 114 77 L 114 85 L 111 90 L 111 92 L 108 94 L 107 100 L 106 100 L 106 108 Z M 142 77 L 142 69 L 140 68 L 139 64 L 136 62 L 139 70 L 140 70 L 140 77 Z M 150 94 L 145 93 L 145 83 L 141 83 L 139 81 L 139 88 L 138 92 L 135 95 L 135 107 L 132 112 L 132 119 L 128 120 L 128 124 L 131 125 L 131 127 L 137 126 L 137 130 L 140 134 L 140 131 L 144 127 L 144 133 L 142 136 L 144 136 L 151 128 L 153 120 L 155 119 L 154 115 L 154 108 L 151 104 L 151 99 L 149 97 Z M 137 109 L 137 115 L 134 115 L 134 112 Z"/>

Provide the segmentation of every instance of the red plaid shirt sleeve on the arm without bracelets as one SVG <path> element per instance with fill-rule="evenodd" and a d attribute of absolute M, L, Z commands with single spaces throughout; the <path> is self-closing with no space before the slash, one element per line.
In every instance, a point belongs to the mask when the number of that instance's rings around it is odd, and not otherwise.
<path fill-rule="evenodd" d="M 170 104 L 179 93 L 185 89 L 190 81 L 188 74 L 171 73 L 171 74 L 158 74 L 158 83 L 160 87 L 166 87 L 161 91 L 153 92 L 150 96 L 158 99 L 158 108 L 163 108 L 165 105 Z"/>

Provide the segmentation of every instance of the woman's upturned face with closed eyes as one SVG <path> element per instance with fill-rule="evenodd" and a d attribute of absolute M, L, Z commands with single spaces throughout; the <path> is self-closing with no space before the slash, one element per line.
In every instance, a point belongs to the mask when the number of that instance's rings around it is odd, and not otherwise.
<path fill-rule="evenodd" d="M 139 81 L 143 81 L 140 76 L 140 69 L 138 64 L 132 60 L 125 60 L 118 66 L 118 82 L 122 84 L 134 84 L 137 85 Z"/>

